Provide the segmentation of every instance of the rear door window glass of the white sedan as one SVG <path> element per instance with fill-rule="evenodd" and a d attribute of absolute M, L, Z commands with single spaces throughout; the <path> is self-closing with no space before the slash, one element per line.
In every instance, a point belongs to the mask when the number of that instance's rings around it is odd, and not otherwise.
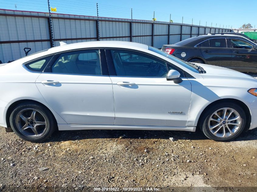
<path fill-rule="evenodd" d="M 53 73 L 102 75 L 98 49 L 61 53 L 52 66 Z"/>

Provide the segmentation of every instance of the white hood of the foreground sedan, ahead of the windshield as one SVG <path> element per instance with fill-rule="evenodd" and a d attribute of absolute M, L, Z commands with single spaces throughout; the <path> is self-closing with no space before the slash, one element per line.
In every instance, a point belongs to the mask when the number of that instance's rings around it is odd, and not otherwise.
<path fill-rule="evenodd" d="M 203 69 L 206 71 L 206 73 L 201 73 L 202 77 L 204 79 L 210 78 L 210 77 L 217 77 L 217 78 L 241 78 L 241 79 L 255 79 L 252 76 L 246 75 L 244 73 L 235 71 L 233 69 L 227 69 L 224 67 L 214 66 L 214 65 L 207 65 L 207 64 L 201 64 L 201 63 L 195 63 L 196 65 L 199 65 L 203 67 Z M 257 81 L 257 79 L 255 79 Z"/>

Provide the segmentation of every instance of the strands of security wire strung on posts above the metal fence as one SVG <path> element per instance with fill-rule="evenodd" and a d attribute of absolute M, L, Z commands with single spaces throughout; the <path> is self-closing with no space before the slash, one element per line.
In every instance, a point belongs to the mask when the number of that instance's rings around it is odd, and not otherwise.
<path fill-rule="evenodd" d="M 14 9 L 14 5 L 17 6 L 18 10 L 34 10 L 41 12 L 48 12 L 47 2 L 38 1 L 38 0 L 28 0 L 26 2 L 17 2 L 14 0 L 2 0 L 0 5 L 2 7 Z M 13 6 L 12 6 L 13 5 Z M 72 6 L 73 5 L 73 6 Z M 83 2 L 75 2 L 69 0 L 50 0 L 50 6 L 56 7 L 57 12 L 54 13 L 62 13 L 62 14 L 74 14 L 74 15 L 88 15 L 88 16 L 96 16 L 96 3 L 83 1 Z M 116 6 L 116 5 L 107 5 L 104 3 L 98 3 L 99 8 L 99 17 L 119 17 L 123 19 L 131 19 L 131 8 Z M 138 20 L 153 20 L 153 12 L 151 10 L 142 10 L 138 8 L 133 9 L 133 19 Z M 162 13 L 162 12 L 155 12 L 155 19 L 156 21 L 161 22 L 170 22 L 170 14 L 171 20 L 175 23 L 182 23 L 182 16 L 183 15 L 173 15 L 172 13 Z M 192 19 L 189 17 L 183 17 L 183 24 L 192 24 Z M 193 19 L 193 25 L 199 25 L 200 19 L 197 21 Z M 209 21 L 208 25 L 215 28 L 216 22 Z M 206 21 L 200 22 L 201 26 L 206 26 Z M 207 26 L 208 26 L 207 25 Z M 217 28 L 221 26 L 223 28 L 224 24 L 217 23 Z M 226 25 L 224 25 L 225 28 Z M 228 28 L 228 25 L 227 25 Z"/>

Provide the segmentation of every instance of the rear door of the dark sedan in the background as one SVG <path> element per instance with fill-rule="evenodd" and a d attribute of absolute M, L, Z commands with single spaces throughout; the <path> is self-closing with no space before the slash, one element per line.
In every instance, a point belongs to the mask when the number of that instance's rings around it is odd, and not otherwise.
<path fill-rule="evenodd" d="M 227 48 L 226 38 L 212 38 L 197 45 L 203 58 L 209 65 L 229 67 L 231 64 L 231 49 Z"/>

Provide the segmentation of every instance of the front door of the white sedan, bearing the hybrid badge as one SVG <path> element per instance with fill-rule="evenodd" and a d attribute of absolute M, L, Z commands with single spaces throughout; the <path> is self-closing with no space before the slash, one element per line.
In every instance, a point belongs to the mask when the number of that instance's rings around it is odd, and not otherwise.
<path fill-rule="evenodd" d="M 110 76 L 115 125 L 186 126 L 191 84 L 182 72 L 176 84 L 166 80 L 172 66 L 145 53 L 113 49 L 106 56 L 116 72 Z"/>

